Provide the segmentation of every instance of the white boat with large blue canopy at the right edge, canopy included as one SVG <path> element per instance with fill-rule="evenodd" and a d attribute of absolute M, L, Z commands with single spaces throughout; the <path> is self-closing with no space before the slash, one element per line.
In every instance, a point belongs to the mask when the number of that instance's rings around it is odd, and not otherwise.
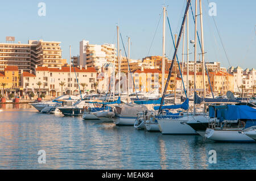
<path fill-rule="evenodd" d="M 205 138 L 225 142 L 255 142 L 247 128 L 256 126 L 256 109 L 246 105 L 209 106 L 209 116 L 218 120 L 209 124 Z"/>

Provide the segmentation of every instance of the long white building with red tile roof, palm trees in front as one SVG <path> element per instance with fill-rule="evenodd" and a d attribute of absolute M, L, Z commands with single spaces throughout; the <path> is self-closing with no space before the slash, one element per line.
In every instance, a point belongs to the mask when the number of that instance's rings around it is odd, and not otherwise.
<path fill-rule="evenodd" d="M 76 75 L 75 75 L 76 72 Z M 76 79 L 77 77 L 77 79 Z M 42 83 L 40 86 L 40 92 L 44 92 L 46 95 L 60 96 L 62 94 L 79 94 L 79 84 L 85 83 L 85 91 L 94 91 L 94 83 L 97 81 L 97 71 L 95 68 L 82 68 L 81 66 L 75 68 L 59 67 L 52 68 L 46 66 L 36 66 L 36 73 L 31 74 L 28 72 L 22 73 L 22 86 L 27 92 L 38 92 L 38 82 Z M 60 83 L 65 84 L 62 87 L 61 92 Z M 81 91 L 83 87 L 80 85 Z"/>

